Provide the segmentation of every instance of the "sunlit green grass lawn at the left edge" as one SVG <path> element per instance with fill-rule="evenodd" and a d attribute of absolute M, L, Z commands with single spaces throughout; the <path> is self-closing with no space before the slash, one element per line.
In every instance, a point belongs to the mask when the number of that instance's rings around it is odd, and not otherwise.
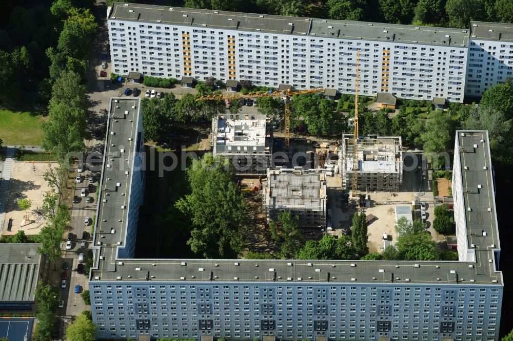
<path fill-rule="evenodd" d="M 0 139 L 4 145 L 41 145 L 46 118 L 30 112 L 0 109 Z"/>

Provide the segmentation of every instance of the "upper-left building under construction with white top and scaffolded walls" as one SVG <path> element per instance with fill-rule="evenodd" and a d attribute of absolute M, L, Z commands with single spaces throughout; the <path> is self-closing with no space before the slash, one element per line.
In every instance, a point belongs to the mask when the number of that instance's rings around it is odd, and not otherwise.
<path fill-rule="evenodd" d="M 223 114 L 212 120 L 213 155 L 228 158 L 235 174 L 265 174 L 272 143 L 271 119 L 265 115 Z"/>

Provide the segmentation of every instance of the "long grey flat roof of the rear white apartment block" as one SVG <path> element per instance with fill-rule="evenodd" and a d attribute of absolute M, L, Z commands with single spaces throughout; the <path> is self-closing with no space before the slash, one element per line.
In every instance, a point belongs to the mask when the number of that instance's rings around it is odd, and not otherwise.
<path fill-rule="evenodd" d="M 451 47 L 466 47 L 469 38 L 468 29 L 367 23 L 124 3 L 114 3 L 111 11 L 108 12 L 108 19 L 156 25 L 182 25 L 206 30 L 215 28 L 255 33 L 378 40 L 397 42 L 398 44 Z"/>

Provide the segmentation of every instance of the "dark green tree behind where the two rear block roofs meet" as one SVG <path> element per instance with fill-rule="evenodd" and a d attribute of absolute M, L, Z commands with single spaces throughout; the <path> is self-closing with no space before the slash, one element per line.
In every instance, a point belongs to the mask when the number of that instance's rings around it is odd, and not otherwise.
<path fill-rule="evenodd" d="M 468 28 L 470 20 L 486 20 L 483 0 L 447 0 L 445 11 L 449 16 L 449 26 Z"/>

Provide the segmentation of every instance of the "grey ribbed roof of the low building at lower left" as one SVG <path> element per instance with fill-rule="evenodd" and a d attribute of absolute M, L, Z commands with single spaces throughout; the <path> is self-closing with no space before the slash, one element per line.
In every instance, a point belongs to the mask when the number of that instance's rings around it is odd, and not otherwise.
<path fill-rule="evenodd" d="M 0 302 L 35 300 L 41 244 L 0 244 Z"/>

